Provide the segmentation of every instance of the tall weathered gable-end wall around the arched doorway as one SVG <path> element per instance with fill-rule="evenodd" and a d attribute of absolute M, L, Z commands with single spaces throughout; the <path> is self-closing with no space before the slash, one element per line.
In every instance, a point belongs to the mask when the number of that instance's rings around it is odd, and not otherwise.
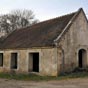
<path fill-rule="evenodd" d="M 64 51 L 64 71 L 71 71 L 78 67 L 78 51 L 80 49 L 85 49 L 88 55 L 88 23 L 82 11 L 61 39 L 59 46 Z"/>

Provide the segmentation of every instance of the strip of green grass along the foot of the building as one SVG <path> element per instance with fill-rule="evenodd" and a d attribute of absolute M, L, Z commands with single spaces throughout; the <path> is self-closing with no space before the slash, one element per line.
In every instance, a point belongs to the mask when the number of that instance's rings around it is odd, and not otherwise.
<path fill-rule="evenodd" d="M 0 78 L 15 79 L 15 80 L 26 80 L 26 81 L 49 81 L 49 80 L 62 80 L 70 78 L 85 78 L 88 77 L 88 72 L 77 72 L 65 75 L 59 75 L 58 77 L 52 76 L 38 76 L 35 74 L 11 74 L 11 73 L 0 73 Z"/>

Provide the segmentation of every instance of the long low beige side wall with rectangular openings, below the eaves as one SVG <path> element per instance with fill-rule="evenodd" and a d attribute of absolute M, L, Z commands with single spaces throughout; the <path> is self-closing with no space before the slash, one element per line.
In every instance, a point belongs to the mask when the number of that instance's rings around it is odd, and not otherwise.
<path fill-rule="evenodd" d="M 29 65 L 29 53 L 39 53 L 39 74 L 57 76 L 57 49 L 43 48 L 43 49 L 25 49 L 25 50 L 3 50 L 4 54 L 3 67 L 0 67 L 0 72 L 30 73 L 32 63 Z M 18 67 L 15 70 L 11 69 L 11 53 L 18 53 Z M 29 67 L 30 66 L 30 67 Z"/>

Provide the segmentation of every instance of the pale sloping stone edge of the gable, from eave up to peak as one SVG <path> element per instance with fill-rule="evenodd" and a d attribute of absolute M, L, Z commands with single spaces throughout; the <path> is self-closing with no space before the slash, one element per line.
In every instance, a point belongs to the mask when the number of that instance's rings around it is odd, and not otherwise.
<path fill-rule="evenodd" d="M 64 30 L 61 32 L 61 34 L 56 38 L 54 39 L 54 44 L 57 46 L 57 41 L 59 41 L 62 37 L 62 35 L 65 33 L 65 31 L 67 30 L 67 28 L 69 26 L 71 26 L 72 22 L 75 20 L 75 18 L 77 17 L 77 15 L 80 13 L 80 11 L 83 11 L 82 8 L 80 8 L 77 13 L 75 13 L 75 15 L 72 17 L 72 19 L 68 22 L 68 24 L 65 26 Z M 83 11 L 84 12 L 84 11 Z M 86 18 L 87 19 L 87 18 Z"/>

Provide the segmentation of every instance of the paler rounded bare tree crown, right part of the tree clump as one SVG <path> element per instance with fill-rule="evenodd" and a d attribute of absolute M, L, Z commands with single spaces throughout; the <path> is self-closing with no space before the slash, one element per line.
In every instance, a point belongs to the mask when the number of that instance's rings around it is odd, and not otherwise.
<path fill-rule="evenodd" d="M 31 10 L 13 10 L 10 13 L 10 16 L 15 16 L 15 22 L 17 26 L 20 27 L 25 27 L 25 26 L 30 26 L 36 22 L 38 22 Z"/>

